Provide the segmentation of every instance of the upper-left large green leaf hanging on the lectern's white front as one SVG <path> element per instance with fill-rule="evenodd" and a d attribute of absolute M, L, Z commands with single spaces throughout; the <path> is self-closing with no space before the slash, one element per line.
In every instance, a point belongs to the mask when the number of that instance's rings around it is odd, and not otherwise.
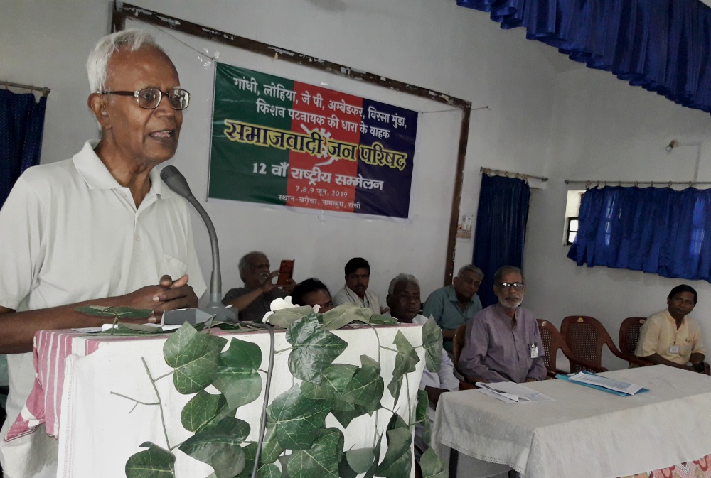
<path fill-rule="evenodd" d="M 196 393 L 210 385 L 218 371 L 220 351 L 227 340 L 196 332 L 184 323 L 163 346 L 166 364 L 173 367 L 173 384 L 180 393 Z"/>

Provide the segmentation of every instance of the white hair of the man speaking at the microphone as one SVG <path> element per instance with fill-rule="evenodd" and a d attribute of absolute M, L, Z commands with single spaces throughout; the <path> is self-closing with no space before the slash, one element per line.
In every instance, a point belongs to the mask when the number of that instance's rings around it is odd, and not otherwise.
<path fill-rule="evenodd" d="M 161 46 L 156 43 L 156 39 L 150 33 L 142 30 L 129 29 L 117 31 L 107 35 L 94 47 L 87 60 L 87 73 L 89 75 L 89 89 L 92 93 L 102 92 L 106 89 L 107 65 L 112 55 L 121 48 L 129 51 L 136 51 L 139 48 L 149 46 L 166 53 Z"/>

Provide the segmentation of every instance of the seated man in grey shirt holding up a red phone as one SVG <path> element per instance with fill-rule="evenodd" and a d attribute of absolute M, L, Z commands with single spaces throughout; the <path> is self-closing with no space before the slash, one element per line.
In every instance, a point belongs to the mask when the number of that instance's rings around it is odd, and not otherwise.
<path fill-rule="evenodd" d="M 272 283 L 279 271 L 269 271 L 269 259 L 260 251 L 252 251 L 240 259 L 240 278 L 245 286 L 230 289 L 223 304 L 233 305 L 239 310 L 240 320 L 258 322 L 269 312 L 272 300 L 286 297 L 294 290 L 294 281 L 287 280 L 284 290 Z"/>

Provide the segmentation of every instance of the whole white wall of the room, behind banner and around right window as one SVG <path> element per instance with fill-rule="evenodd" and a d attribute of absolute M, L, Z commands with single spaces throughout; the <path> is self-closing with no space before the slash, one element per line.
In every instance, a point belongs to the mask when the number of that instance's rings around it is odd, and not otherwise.
<path fill-rule="evenodd" d="M 488 15 L 457 7 L 451 0 L 132 3 L 449 92 L 468 99 L 475 109 L 488 106 L 471 114 L 461 214 L 476 215 L 481 166 L 550 178 L 533 192 L 525 251 L 526 305 L 537 317 L 559 325 L 565 315 L 593 315 L 616 337 L 624 317 L 660 310 L 668 290 L 680 282 L 634 271 L 577 267 L 566 259 L 560 234 L 567 191 L 563 180 L 690 180 L 695 150 L 679 148 L 668 154 L 664 147 L 672 138 L 708 143 L 708 114 L 678 107 L 609 73 L 578 67 L 554 49 L 525 40 L 523 30 L 501 31 Z M 70 157 L 85 139 L 97 134 L 85 107 L 84 62 L 95 41 L 108 32 L 110 9 L 104 0 L 0 0 L 0 79 L 52 88 L 43 163 Z M 237 63 L 253 61 L 250 65 L 257 65 L 256 69 L 287 77 L 303 72 L 224 45 L 174 36 L 166 40 L 166 48 L 176 60 L 181 80 L 191 84 L 198 98 L 186 116 L 174 163 L 190 178 L 196 197 L 203 199 L 212 87 L 207 55 L 220 53 L 220 60 Z M 342 85 L 366 93 L 357 82 Z M 418 109 L 432 112 L 442 107 L 418 104 Z M 332 288 L 341 286 L 343 264 L 355 255 L 370 259 L 371 287 L 380 295 L 401 271 L 419 276 L 424 294 L 440 286 L 446 263 L 447 198 L 451 197 L 451 182 L 442 170 L 453 177 L 447 162 L 453 156 L 446 146 L 456 143 L 456 116 L 421 115 L 427 130 L 439 135 L 418 142 L 409 224 L 320 219 L 240 202 L 203 202 L 220 236 L 223 287 L 240 285 L 237 259 L 251 249 L 266 251 L 273 266 L 279 259 L 296 257 L 296 279 L 319 276 Z M 702 152 L 700 179 L 711 180 L 711 148 Z M 446 205 L 432 207 L 435 200 Z M 403 236 L 414 239 L 403 246 L 398 239 Z M 207 276 L 209 244 L 199 226 L 196 241 Z M 472 244 L 458 240 L 456 267 L 471 260 Z M 693 285 L 700 292 L 696 315 L 704 317 L 711 303 L 709 285 Z M 702 321 L 702 327 L 711 337 L 711 325 Z M 612 360 L 608 364 L 623 365 Z"/>

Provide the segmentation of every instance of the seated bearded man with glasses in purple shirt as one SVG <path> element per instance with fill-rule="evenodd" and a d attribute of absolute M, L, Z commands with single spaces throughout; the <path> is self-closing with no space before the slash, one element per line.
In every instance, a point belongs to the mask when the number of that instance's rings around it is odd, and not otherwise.
<path fill-rule="evenodd" d="M 498 303 L 481 310 L 466 324 L 459 367 L 488 382 L 545 379 L 538 324 L 530 310 L 519 307 L 525 291 L 520 269 L 499 268 L 493 291 Z"/>

